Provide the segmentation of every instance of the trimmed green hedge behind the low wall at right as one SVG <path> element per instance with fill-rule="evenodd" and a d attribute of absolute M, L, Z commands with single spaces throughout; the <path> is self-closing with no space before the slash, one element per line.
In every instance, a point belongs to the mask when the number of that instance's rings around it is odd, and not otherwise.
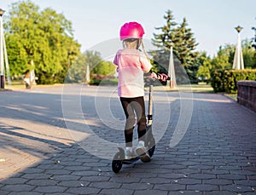
<path fill-rule="evenodd" d="M 211 85 L 214 92 L 237 93 L 237 81 L 256 80 L 256 70 L 226 70 L 211 72 Z"/>

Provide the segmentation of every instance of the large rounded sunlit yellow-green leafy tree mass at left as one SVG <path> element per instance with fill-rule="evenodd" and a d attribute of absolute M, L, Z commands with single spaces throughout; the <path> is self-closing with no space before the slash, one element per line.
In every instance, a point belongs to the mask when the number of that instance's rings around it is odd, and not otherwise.
<path fill-rule="evenodd" d="M 6 22 L 12 74 L 35 69 L 38 83 L 62 83 L 80 53 L 72 23 L 53 9 L 40 11 L 31 1 L 13 3 Z M 35 66 L 32 67 L 32 64 Z"/>

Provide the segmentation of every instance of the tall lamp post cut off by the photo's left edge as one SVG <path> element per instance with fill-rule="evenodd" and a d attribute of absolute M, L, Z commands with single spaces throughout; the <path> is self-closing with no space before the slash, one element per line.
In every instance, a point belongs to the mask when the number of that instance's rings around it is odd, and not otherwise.
<path fill-rule="evenodd" d="M 1 89 L 4 89 L 4 64 L 3 64 L 3 14 L 4 10 L 0 9 L 0 65 L 1 65 L 1 72 L 0 72 L 0 82 L 1 82 Z"/>

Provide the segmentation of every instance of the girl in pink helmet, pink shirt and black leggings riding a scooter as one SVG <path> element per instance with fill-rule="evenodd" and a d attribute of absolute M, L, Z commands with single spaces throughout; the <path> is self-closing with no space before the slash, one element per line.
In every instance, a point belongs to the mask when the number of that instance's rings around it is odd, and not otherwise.
<path fill-rule="evenodd" d="M 143 26 L 137 22 L 128 22 L 120 29 L 120 40 L 124 49 L 119 49 L 113 63 L 118 66 L 119 85 L 118 95 L 123 106 L 125 122 L 125 159 L 140 156 L 146 163 L 150 161 L 145 147 L 145 134 L 147 119 L 144 103 L 144 73 L 151 78 L 166 80 L 165 74 L 157 76 L 151 72 L 151 64 L 146 54 L 139 50 L 143 39 Z M 133 129 L 137 124 L 138 145 L 134 150 L 132 146 Z"/>

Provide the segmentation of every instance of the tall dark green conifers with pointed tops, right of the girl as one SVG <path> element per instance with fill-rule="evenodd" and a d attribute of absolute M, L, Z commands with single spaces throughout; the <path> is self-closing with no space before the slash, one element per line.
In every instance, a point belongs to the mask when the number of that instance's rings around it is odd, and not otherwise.
<path fill-rule="evenodd" d="M 195 42 L 195 37 L 192 30 L 188 27 L 188 22 L 185 18 L 180 25 L 174 22 L 172 11 L 167 10 L 164 16 L 166 25 L 156 28 L 160 30 L 160 34 L 154 34 L 153 44 L 158 47 L 159 51 L 153 51 L 155 61 L 163 61 L 162 56 L 166 55 L 166 62 L 168 65 L 168 52 L 167 49 L 171 48 L 173 44 L 173 53 L 180 60 L 182 66 L 186 70 L 191 82 L 196 81 L 196 72 L 198 69 L 197 56 L 199 53 L 195 52 L 195 47 L 198 43 Z"/>

